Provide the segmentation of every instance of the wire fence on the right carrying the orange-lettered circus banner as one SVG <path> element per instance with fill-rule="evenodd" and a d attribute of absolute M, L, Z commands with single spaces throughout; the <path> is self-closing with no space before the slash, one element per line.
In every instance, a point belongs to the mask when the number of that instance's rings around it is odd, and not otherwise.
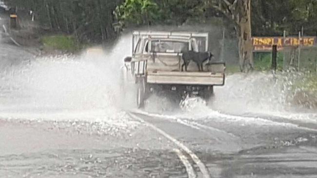
<path fill-rule="evenodd" d="M 271 63 L 272 66 L 278 66 L 282 64 L 278 69 L 289 71 L 303 71 L 307 73 L 317 73 L 317 36 L 301 36 L 302 33 L 298 33 L 298 36 L 260 36 L 253 37 L 252 42 L 254 46 L 254 53 L 256 61 L 258 53 L 264 53 L 266 56 L 266 65 Z M 276 47 L 277 64 L 272 62 L 272 47 Z M 256 62 L 256 65 L 263 65 L 263 61 L 260 58 L 260 62 Z M 257 67 L 257 66 L 256 66 Z"/>

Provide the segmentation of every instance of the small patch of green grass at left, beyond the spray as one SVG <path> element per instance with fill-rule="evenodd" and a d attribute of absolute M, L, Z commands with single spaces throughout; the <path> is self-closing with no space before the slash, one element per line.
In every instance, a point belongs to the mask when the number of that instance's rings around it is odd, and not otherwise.
<path fill-rule="evenodd" d="M 80 50 L 80 45 L 74 36 L 43 36 L 41 42 L 44 45 L 44 50 L 61 50 L 66 52 L 76 52 Z"/>

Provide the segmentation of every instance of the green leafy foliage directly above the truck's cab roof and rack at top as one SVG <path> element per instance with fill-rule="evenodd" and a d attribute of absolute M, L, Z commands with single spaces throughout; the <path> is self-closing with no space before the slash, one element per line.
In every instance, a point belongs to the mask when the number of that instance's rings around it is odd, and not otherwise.
<path fill-rule="evenodd" d="M 119 21 L 129 25 L 182 24 L 188 19 L 202 22 L 205 0 L 125 0 L 116 8 Z"/>

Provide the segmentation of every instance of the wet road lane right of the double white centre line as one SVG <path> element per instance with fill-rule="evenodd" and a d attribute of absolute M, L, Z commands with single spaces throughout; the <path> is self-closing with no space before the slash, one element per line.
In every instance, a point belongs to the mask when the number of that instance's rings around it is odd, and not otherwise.
<path fill-rule="evenodd" d="M 194 121 L 137 116 L 194 150 L 210 177 L 296 178 L 317 174 L 316 124 L 308 128 L 225 114 Z"/>

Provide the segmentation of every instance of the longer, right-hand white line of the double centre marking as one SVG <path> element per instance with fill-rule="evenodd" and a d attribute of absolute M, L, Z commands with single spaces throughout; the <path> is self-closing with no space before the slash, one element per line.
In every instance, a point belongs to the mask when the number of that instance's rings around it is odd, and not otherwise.
<path fill-rule="evenodd" d="M 138 116 L 136 116 L 132 113 L 129 113 L 129 115 L 133 119 L 136 119 L 136 120 L 140 121 L 141 123 L 146 124 L 147 126 L 151 127 L 152 129 L 154 129 L 155 131 L 157 131 L 158 133 L 160 133 L 161 135 L 163 135 L 164 137 L 166 137 L 167 139 L 169 139 L 170 141 L 172 141 L 176 145 L 178 145 L 178 147 L 181 148 L 182 150 L 184 150 L 192 158 L 192 160 L 198 165 L 200 172 L 202 173 L 203 178 L 210 178 L 209 173 L 208 173 L 208 169 L 205 166 L 205 164 L 203 162 L 201 162 L 201 160 L 199 160 L 198 156 L 194 152 L 192 152 L 188 147 L 186 147 L 183 143 L 174 139 L 172 136 L 168 135 L 167 133 L 165 133 L 163 130 L 159 129 L 158 127 L 156 127 L 148 122 L 145 122 L 143 119 L 139 118 Z"/>

